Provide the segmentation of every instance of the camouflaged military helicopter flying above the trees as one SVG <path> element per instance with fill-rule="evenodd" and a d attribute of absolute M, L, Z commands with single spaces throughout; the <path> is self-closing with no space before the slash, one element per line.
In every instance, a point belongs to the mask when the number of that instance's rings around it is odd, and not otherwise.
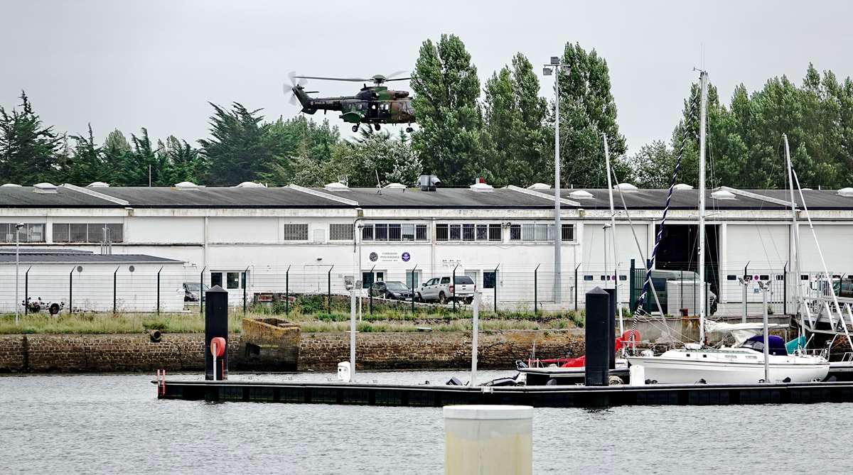
<path fill-rule="evenodd" d="M 347 123 L 353 123 L 352 131 L 357 132 L 362 123 L 373 124 L 376 130 L 380 129 L 380 123 L 407 123 L 406 132 L 412 131 L 412 123 L 415 122 L 415 109 L 412 107 L 412 98 L 409 91 L 395 91 L 388 89 L 382 84 L 389 81 L 405 81 L 409 77 L 397 77 L 404 71 L 394 72 L 388 76 L 377 74 L 374 77 L 319 77 L 319 76 L 297 76 L 291 72 L 290 84 L 285 84 L 285 94 L 289 87 L 291 93 L 290 103 L 302 105 L 302 112 L 313 114 L 322 110 L 340 111 L 340 118 Z M 299 82 L 296 80 L 299 79 Z M 307 79 L 320 79 L 322 81 L 346 81 L 351 83 L 364 83 L 364 87 L 356 95 L 339 97 L 317 97 L 308 94 L 317 91 L 306 91 Z M 368 83 L 374 83 L 368 86 Z"/>

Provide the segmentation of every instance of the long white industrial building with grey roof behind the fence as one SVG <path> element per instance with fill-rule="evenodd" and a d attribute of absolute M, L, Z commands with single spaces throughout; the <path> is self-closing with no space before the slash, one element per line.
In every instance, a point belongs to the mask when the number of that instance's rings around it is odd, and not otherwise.
<path fill-rule="evenodd" d="M 630 262 L 643 267 L 637 243 L 643 255 L 651 253 L 667 190 L 619 187 L 614 197 L 617 282 L 620 300 L 627 302 Z M 853 271 L 848 250 L 853 190 L 808 190 L 804 197 L 830 271 Z M 497 287 L 502 308 L 529 308 L 534 298 L 546 308 L 572 308 L 575 295 L 583 306 L 586 289 L 613 285 L 612 272 L 605 271 L 614 267 L 613 233 L 605 227 L 611 212 L 606 189 L 564 189 L 560 199 L 559 304 L 553 285 L 554 191 L 541 184 L 492 188 L 480 183 L 435 191 L 339 183 L 321 188 L 5 185 L 0 186 L 0 245 L 14 246 L 15 223 L 24 223 L 19 237 L 27 248 L 179 260 L 183 277 L 177 280 L 220 284 L 232 292 L 232 301 L 241 299 L 244 287 L 250 296 L 284 291 L 286 285 L 290 292 L 325 293 L 331 282 L 331 291 L 342 294 L 345 279 L 353 276 L 365 282 L 405 282 L 414 274 L 417 286 L 456 269 L 475 279 L 489 305 Z M 747 264 L 747 274 L 788 283 L 775 299 L 790 301 L 792 282 L 798 279 L 791 273 L 787 199 L 783 190 L 709 190 L 706 261 L 718 276 L 709 280 L 723 308 L 740 308 L 737 277 Z M 676 186 L 657 268 L 695 268 L 697 203 L 696 190 Z M 819 272 L 802 211 L 798 220 L 802 271 Z M 9 266 L 0 272 L 9 282 Z M 760 296 L 750 294 L 750 300 Z"/>

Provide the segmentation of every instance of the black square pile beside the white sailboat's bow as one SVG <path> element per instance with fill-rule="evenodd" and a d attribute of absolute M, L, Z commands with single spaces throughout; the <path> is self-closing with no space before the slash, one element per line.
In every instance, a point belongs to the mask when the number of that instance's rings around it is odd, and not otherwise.
<path fill-rule="evenodd" d="M 586 386 L 607 386 L 607 378 L 610 375 L 607 368 L 610 365 L 610 357 L 607 355 L 611 345 L 607 340 L 613 339 L 613 334 L 609 333 L 611 329 L 607 323 L 608 314 L 612 320 L 610 296 L 601 287 L 587 292 L 586 323 L 583 325 L 586 333 Z"/>

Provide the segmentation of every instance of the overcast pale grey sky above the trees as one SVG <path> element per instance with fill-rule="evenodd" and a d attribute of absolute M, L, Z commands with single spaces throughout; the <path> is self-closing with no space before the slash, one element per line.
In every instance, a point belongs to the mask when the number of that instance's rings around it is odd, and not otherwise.
<path fill-rule="evenodd" d="M 799 83 L 809 61 L 838 77 L 853 74 L 850 5 L 0 0 L 0 105 L 15 106 L 26 89 L 59 131 L 83 133 L 91 123 L 102 139 L 114 128 L 129 135 L 146 127 L 155 138 L 194 141 L 207 134 L 207 101 L 239 101 L 270 118 L 296 114 L 281 92 L 290 71 L 411 70 L 421 42 L 456 33 L 485 82 L 516 52 L 538 65 L 578 42 L 610 66 L 631 153 L 670 137 L 703 47 L 711 83 L 727 102 L 738 83 L 754 90 L 782 74 Z M 547 97 L 552 81 L 543 78 Z M 310 83 L 329 95 L 353 86 Z"/>

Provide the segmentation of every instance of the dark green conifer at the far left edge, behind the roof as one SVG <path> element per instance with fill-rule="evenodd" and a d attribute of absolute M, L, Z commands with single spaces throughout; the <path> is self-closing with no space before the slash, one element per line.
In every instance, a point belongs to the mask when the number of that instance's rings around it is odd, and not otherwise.
<path fill-rule="evenodd" d="M 56 160 L 61 137 L 44 127 L 23 91 L 20 102 L 20 111 L 0 106 L 0 176 L 22 185 L 53 182 L 61 175 Z"/>

